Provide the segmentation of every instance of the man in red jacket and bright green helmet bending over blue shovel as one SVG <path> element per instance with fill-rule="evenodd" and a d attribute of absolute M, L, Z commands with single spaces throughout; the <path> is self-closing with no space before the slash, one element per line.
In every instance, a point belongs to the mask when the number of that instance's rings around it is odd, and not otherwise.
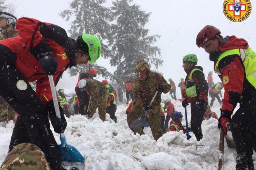
<path fill-rule="evenodd" d="M 0 42 L 0 95 L 20 114 L 9 151 L 32 143 L 44 152 L 51 169 L 63 169 L 48 112 L 55 132 L 63 133 L 67 123 L 62 109 L 61 119 L 56 117 L 48 75 L 56 85 L 67 68 L 95 61 L 100 41 L 89 34 L 71 39 L 63 28 L 32 18 L 18 19 L 16 30 L 20 36 Z M 29 85 L 35 80 L 36 92 Z"/>

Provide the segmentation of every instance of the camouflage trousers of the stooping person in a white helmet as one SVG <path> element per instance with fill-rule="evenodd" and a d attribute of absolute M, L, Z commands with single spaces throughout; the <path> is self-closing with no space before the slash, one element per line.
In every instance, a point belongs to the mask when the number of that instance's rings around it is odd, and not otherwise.
<path fill-rule="evenodd" d="M 107 100 L 108 100 L 108 90 L 106 90 L 105 94 L 100 95 L 100 96 L 97 97 L 96 106 L 99 110 L 100 119 L 103 122 L 106 120 L 106 108 L 107 108 L 106 103 L 107 103 Z M 92 110 L 91 115 L 88 115 L 88 117 L 92 117 L 97 108 Z"/>

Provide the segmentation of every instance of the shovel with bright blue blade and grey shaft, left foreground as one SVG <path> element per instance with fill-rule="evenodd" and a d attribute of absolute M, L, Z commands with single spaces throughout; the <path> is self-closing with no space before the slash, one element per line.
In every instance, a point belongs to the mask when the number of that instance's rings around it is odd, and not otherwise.
<path fill-rule="evenodd" d="M 58 106 L 58 101 L 57 101 L 57 96 L 55 93 L 55 86 L 53 82 L 53 77 L 52 75 L 48 75 L 50 86 L 51 86 L 51 94 L 53 97 L 53 104 L 54 104 L 54 109 L 56 112 L 57 118 L 61 118 L 60 112 L 59 112 L 59 106 Z M 67 162 L 84 162 L 84 157 L 80 154 L 80 152 L 71 145 L 68 145 L 66 142 L 66 138 L 64 133 L 60 134 L 60 140 L 61 140 L 61 145 L 59 145 L 61 155 L 64 159 L 64 161 Z"/>

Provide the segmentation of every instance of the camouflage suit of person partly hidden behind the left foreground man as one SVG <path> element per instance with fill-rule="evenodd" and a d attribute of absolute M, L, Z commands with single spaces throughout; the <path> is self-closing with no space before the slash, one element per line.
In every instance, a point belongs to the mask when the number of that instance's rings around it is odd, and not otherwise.
<path fill-rule="evenodd" d="M 6 38 L 16 37 L 19 34 L 15 31 L 15 28 L 4 28 L 0 33 L 0 40 Z M 1 80 L 0 80 L 1 81 Z M 14 118 L 15 111 L 9 106 L 9 104 L 0 96 L 0 122 L 8 122 Z"/>

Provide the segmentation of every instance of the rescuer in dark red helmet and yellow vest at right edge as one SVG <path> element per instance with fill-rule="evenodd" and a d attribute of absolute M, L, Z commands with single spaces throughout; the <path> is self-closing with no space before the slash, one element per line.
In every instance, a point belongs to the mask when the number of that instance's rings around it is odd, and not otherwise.
<path fill-rule="evenodd" d="M 231 128 L 236 144 L 236 169 L 254 169 L 252 160 L 256 127 L 256 53 L 248 42 L 236 36 L 222 37 L 218 28 L 206 25 L 197 35 L 196 44 L 214 61 L 214 71 L 225 90 L 218 128 L 224 134 Z M 237 105 L 239 109 L 231 115 Z"/>

